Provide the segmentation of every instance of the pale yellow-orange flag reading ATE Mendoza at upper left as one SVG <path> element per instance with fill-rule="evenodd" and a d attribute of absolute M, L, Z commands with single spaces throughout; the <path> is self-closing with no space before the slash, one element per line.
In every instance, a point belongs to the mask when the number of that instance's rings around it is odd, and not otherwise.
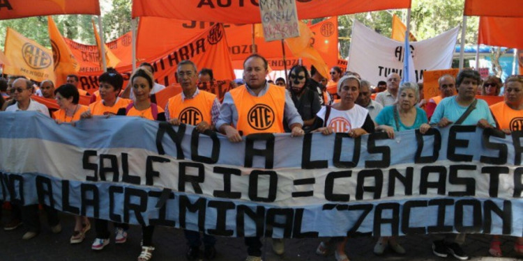
<path fill-rule="evenodd" d="M 10 65 L 3 66 L 4 74 L 24 75 L 35 81 L 54 82 L 52 51 L 8 28 L 4 48 Z"/>

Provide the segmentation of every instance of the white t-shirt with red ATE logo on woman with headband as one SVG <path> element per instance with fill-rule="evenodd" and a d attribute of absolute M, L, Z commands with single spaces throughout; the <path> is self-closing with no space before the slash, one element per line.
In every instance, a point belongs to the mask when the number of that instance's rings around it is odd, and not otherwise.
<path fill-rule="evenodd" d="M 316 113 L 316 116 L 325 120 L 325 113 L 326 106 L 323 106 Z M 368 114 L 369 111 L 358 104 L 354 104 L 354 107 L 347 111 L 338 111 L 331 107 L 331 114 L 328 116 L 326 126 L 333 127 L 334 132 L 349 132 L 351 129 L 363 127 Z"/>

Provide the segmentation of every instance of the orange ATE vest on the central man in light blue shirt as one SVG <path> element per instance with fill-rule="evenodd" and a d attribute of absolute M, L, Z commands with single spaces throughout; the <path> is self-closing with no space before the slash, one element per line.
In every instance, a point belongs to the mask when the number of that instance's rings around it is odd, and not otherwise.
<path fill-rule="evenodd" d="M 229 90 L 229 93 L 238 111 L 236 129 L 243 135 L 285 132 L 285 88 L 269 84 L 267 92 L 261 97 L 251 95 L 245 86 Z"/>

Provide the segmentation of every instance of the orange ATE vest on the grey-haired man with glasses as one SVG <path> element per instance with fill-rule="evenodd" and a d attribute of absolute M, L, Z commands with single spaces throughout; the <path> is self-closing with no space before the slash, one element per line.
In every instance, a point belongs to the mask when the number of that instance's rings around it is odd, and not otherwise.
<path fill-rule="evenodd" d="M 213 123 L 211 111 L 216 95 L 208 93 L 205 90 L 199 90 L 198 95 L 192 99 L 181 100 L 181 93 L 169 98 L 167 110 L 170 118 L 178 118 L 180 122 L 188 125 L 198 125 L 199 122 L 205 121 Z"/>

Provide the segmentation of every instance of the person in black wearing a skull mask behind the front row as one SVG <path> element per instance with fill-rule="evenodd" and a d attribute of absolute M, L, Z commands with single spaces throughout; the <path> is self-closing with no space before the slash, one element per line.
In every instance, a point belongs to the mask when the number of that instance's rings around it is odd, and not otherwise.
<path fill-rule="evenodd" d="M 301 65 L 294 65 L 289 72 L 289 79 L 287 81 L 287 88 L 291 93 L 292 102 L 300 113 L 303 120 L 303 130 L 310 132 L 314 124 L 314 118 L 321 105 L 317 93 L 307 88 L 309 82 L 309 74 L 307 69 Z M 287 124 L 284 124 L 285 131 L 290 132 Z"/>

